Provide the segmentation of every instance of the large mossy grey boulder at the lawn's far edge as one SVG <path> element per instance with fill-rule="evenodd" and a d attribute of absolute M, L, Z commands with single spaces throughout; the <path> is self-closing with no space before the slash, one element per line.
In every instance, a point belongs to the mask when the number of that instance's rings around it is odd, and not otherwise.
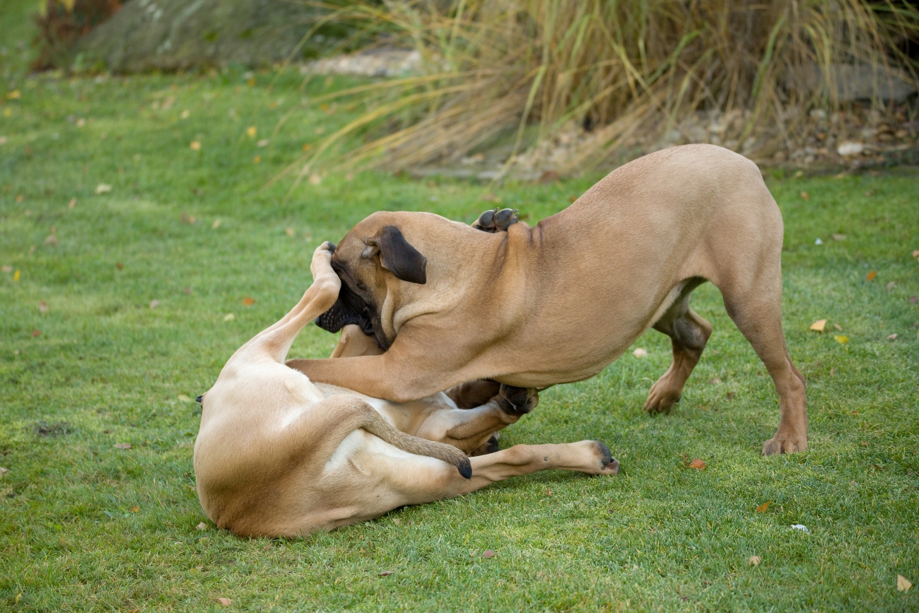
<path fill-rule="evenodd" d="M 289 0 L 130 0 L 77 41 L 74 62 L 116 73 L 265 65 L 298 51 L 318 15 L 316 8 Z M 345 34 L 341 26 L 325 26 L 296 59 Z"/>

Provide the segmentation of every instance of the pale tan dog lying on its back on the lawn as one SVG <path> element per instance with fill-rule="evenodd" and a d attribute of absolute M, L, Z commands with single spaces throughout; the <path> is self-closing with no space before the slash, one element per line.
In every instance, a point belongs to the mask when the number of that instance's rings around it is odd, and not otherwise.
<path fill-rule="evenodd" d="M 195 476 L 201 506 L 218 528 L 241 536 L 305 535 L 514 475 L 618 472 L 607 446 L 592 440 L 467 458 L 464 452 L 519 418 L 500 399 L 463 410 L 437 393 L 399 405 L 313 383 L 286 367 L 294 338 L 338 296 L 334 249 L 316 249 L 313 283 L 301 301 L 240 347 L 201 398 Z M 348 328 L 333 356 L 376 349 Z"/>

